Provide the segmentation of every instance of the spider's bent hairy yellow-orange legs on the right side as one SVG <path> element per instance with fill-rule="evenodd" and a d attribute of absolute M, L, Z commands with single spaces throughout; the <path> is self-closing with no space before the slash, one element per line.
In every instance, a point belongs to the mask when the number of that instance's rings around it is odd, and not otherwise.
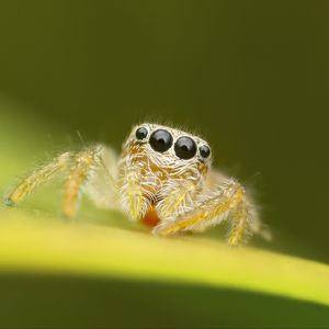
<path fill-rule="evenodd" d="M 260 232 L 253 205 L 245 189 L 232 179 L 224 180 L 213 192 L 201 194 L 191 209 L 179 214 L 177 218 L 163 220 L 155 228 L 155 234 L 169 236 L 180 231 L 202 231 L 227 218 L 232 224 L 228 238 L 230 246 L 239 245 L 253 231 Z"/>

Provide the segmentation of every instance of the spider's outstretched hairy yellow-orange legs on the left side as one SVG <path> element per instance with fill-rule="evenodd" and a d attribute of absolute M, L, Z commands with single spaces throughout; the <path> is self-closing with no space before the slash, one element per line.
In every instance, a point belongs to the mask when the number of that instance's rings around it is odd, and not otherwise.
<path fill-rule="evenodd" d="M 66 217 L 73 217 L 84 188 L 86 193 L 93 201 L 98 197 L 98 195 L 95 196 L 92 193 L 92 184 L 90 183 L 94 181 L 95 175 L 100 174 L 100 169 L 109 166 L 109 163 L 111 164 L 107 158 L 109 150 L 100 145 L 86 148 L 81 151 L 65 152 L 23 179 L 10 193 L 4 195 L 4 203 L 10 206 L 15 205 L 38 186 L 59 175 L 65 175 L 61 211 Z M 112 162 L 116 160 L 114 156 L 110 158 Z M 106 159 L 106 163 L 104 163 L 104 159 Z M 107 173 L 107 170 L 105 171 Z M 106 180 L 105 175 L 103 180 Z"/>

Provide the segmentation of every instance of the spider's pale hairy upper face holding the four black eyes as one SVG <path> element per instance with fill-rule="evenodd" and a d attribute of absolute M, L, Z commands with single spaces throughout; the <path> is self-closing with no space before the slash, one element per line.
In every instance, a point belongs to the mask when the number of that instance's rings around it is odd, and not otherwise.
<path fill-rule="evenodd" d="M 162 178 L 200 178 L 212 162 L 211 148 L 197 136 L 157 124 L 141 124 L 133 128 L 125 145 L 125 156 Z M 159 174 L 158 174 L 159 175 Z M 191 178 L 192 178 L 191 177 Z"/>

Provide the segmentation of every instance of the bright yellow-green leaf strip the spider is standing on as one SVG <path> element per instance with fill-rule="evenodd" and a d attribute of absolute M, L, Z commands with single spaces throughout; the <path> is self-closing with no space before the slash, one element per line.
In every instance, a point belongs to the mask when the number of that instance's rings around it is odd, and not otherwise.
<path fill-rule="evenodd" d="M 73 273 L 242 288 L 329 305 L 329 266 L 203 237 L 44 220 L 0 211 L 0 271 Z"/>

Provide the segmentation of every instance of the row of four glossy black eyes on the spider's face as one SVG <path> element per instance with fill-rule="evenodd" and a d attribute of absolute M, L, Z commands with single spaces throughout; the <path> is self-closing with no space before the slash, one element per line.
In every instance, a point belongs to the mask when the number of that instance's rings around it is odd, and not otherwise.
<path fill-rule="evenodd" d="M 150 134 L 147 140 L 148 135 L 149 131 L 146 127 L 139 127 L 135 133 L 138 140 L 148 141 L 150 147 L 157 152 L 163 154 L 172 147 L 173 137 L 168 131 L 157 129 Z M 181 136 L 174 141 L 173 150 L 178 158 L 189 160 L 197 154 L 197 146 L 193 138 Z M 201 159 L 207 159 L 209 156 L 211 148 L 207 145 L 198 146 L 198 157 Z"/>

